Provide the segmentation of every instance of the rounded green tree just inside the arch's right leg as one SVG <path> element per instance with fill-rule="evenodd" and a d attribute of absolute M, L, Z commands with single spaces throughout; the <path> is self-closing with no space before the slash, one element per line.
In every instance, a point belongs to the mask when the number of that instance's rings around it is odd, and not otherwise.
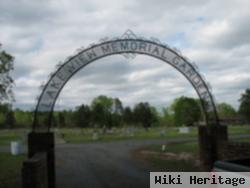
<path fill-rule="evenodd" d="M 174 123 L 176 126 L 192 126 L 201 118 L 200 106 L 197 100 L 189 97 L 175 99 L 172 104 Z"/>

